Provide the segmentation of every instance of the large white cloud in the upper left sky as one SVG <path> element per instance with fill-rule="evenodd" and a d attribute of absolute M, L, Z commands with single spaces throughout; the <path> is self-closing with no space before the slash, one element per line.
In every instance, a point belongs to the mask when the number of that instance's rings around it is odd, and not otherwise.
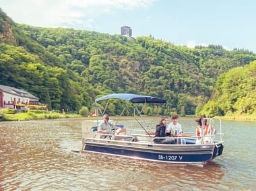
<path fill-rule="evenodd" d="M 0 0 L 14 22 L 42 27 L 97 28 L 94 20 L 115 11 L 146 7 L 156 0 Z"/>

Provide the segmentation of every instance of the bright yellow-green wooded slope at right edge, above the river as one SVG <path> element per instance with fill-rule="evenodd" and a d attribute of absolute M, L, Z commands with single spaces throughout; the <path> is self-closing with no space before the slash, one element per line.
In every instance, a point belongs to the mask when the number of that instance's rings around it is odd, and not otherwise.
<path fill-rule="evenodd" d="M 256 61 L 222 74 L 203 113 L 237 118 L 256 114 Z"/>

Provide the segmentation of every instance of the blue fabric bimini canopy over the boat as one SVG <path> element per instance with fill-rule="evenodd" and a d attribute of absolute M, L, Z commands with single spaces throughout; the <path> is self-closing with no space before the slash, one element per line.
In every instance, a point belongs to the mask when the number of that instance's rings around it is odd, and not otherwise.
<path fill-rule="evenodd" d="M 166 101 L 162 100 L 161 98 L 156 98 L 150 95 L 137 95 L 132 93 L 113 93 L 104 95 L 100 98 L 95 99 L 95 102 L 101 101 L 101 100 L 108 100 L 108 99 L 120 99 L 120 100 L 126 100 L 128 102 L 132 103 L 159 103 L 164 104 Z"/>

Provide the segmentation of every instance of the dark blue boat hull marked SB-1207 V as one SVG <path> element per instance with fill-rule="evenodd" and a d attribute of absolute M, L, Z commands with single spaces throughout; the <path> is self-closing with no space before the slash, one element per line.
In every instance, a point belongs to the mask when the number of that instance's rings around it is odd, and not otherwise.
<path fill-rule="evenodd" d="M 150 161 L 168 163 L 205 163 L 217 155 L 221 155 L 223 145 L 211 146 L 201 149 L 181 149 L 166 151 L 160 149 L 129 148 L 120 145 L 99 145 L 97 143 L 86 143 L 84 151 L 103 153 L 108 155 L 119 155 L 123 157 L 139 158 Z"/>

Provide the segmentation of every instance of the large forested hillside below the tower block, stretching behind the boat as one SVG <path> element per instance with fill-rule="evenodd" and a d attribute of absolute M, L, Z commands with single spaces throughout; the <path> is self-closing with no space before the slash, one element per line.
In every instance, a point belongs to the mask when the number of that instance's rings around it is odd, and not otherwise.
<path fill-rule="evenodd" d="M 98 95 L 127 92 L 166 99 L 158 114 L 195 114 L 222 73 L 256 60 L 253 52 L 220 45 L 187 48 L 149 36 L 39 28 L 0 15 L 0 84 L 26 89 L 55 110 L 91 109 Z M 115 114 L 118 106 L 111 107 Z"/>

